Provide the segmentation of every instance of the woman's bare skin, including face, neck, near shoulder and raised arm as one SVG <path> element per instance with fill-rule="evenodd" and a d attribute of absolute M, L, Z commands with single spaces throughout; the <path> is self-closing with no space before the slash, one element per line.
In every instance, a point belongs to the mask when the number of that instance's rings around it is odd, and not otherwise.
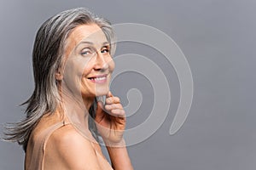
<path fill-rule="evenodd" d="M 99 95 L 106 95 L 106 105 L 97 103 L 96 127 L 107 144 L 113 168 L 133 169 L 123 139 L 125 111 L 119 98 L 113 96 L 108 88 L 114 69 L 109 50 L 107 38 L 101 28 L 94 24 L 78 26 L 67 37 L 64 66 L 56 72 L 55 77 L 62 82 L 60 93 L 64 111 L 78 126 L 61 127 L 49 137 L 45 169 L 102 169 L 95 150 L 101 155 L 102 151 L 88 128 L 88 110 L 95 96 Z M 105 75 L 106 79 L 99 82 L 91 79 L 99 75 Z M 53 116 L 60 115 L 61 110 L 57 110 Z M 42 120 L 38 127 L 47 122 L 44 122 L 44 118 Z M 94 146 L 90 141 L 94 142 Z"/>

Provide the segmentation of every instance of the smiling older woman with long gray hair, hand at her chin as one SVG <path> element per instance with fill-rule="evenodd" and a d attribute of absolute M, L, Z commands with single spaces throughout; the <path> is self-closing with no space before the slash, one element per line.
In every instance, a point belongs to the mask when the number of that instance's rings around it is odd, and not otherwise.
<path fill-rule="evenodd" d="M 26 119 L 7 133 L 23 145 L 25 169 L 132 169 L 123 139 L 125 111 L 109 91 L 114 48 L 109 22 L 86 8 L 63 11 L 39 28 Z"/>

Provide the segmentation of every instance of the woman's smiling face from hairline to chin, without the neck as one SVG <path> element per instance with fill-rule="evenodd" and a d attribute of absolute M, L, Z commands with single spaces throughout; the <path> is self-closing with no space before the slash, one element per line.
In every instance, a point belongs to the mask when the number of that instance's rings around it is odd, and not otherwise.
<path fill-rule="evenodd" d="M 99 26 L 76 27 L 67 37 L 62 92 L 92 98 L 109 91 L 114 63 L 110 44 Z"/>

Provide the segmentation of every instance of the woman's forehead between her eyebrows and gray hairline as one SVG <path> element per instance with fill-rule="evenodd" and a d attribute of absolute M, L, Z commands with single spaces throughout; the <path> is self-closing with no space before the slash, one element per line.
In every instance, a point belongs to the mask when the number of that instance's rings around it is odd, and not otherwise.
<path fill-rule="evenodd" d="M 107 42 L 107 37 L 96 24 L 77 26 L 67 37 L 67 50 L 74 48 L 79 42 L 84 40 L 86 40 L 86 42 L 92 42 L 93 44 L 102 44 L 102 42 Z"/>

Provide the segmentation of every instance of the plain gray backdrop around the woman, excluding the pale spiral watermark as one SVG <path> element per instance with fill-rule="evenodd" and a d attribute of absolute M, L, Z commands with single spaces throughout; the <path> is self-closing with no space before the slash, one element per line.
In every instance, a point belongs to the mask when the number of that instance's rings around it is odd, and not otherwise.
<path fill-rule="evenodd" d="M 17 122 L 24 116 L 18 105 L 32 94 L 31 54 L 38 27 L 49 16 L 74 7 L 88 7 L 113 24 L 134 22 L 154 26 L 172 37 L 189 61 L 195 83 L 193 104 L 183 127 L 170 136 L 179 99 L 172 65 L 155 59 L 160 54 L 153 48 L 129 42 L 119 44 L 117 54 L 132 51 L 157 60 L 172 87 L 172 105 L 166 121 L 149 139 L 128 147 L 135 169 L 255 169 L 253 0 L 1 1 L 1 131 L 3 122 Z M 127 127 L 135 127 L 147 118 L 154 100 L 150 98 L 152 87 L 142 75 L 124 73 L 111 88 L 124 105 L 127 89 L 138 88 L 143 94 L 143 105 L 128 118 Z M 22 169 L 23 159 L 18 144 L 1 141 L 1 170 Z"/>

